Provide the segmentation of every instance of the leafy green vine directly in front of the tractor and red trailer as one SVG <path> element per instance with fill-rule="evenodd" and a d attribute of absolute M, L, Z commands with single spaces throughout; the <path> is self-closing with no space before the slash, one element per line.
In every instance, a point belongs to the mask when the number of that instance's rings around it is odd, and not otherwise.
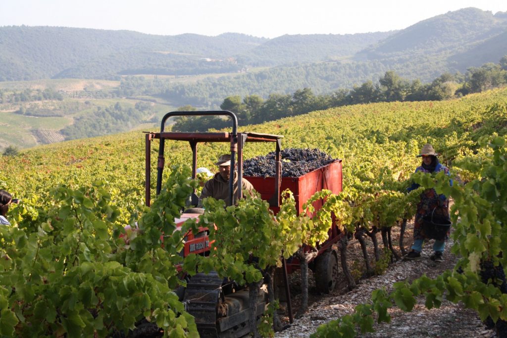
<path fill-rule="evenodd" d="M 204 199 L 203 204 L 205 213 L 197 225 L 209 230 L 210 254 L 200 260 L 200 270 L 214 270 L 245 284 L 261 280 L 260 269 L 281 264 L 280 225 L 259 195 L 247 194 L 227 208 L 223 200 L 213 198 Z"/>

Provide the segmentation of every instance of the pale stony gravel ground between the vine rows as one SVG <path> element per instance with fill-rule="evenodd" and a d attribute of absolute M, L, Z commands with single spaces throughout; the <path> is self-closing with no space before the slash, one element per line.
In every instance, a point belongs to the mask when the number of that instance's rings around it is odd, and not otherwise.
<path fill-rule="evenodd" d="M 407 227 L 411 229 L 411 225 L 407 225 Z M 398 234 L 393 235 L 393 238 L 397 238 L 396 236 L 398 236 Z M 412 231 L 407 230 L 405 234 L 406 248 L 410 248 L 411 238 Z M 275 337 L 308 337 L 316 331 L 319 325 L 352 313 L 357 304 L 370 302 L 371 293 L 377 288 L 386 287 L 390 291 L 392 283 L 396 281 L 413 280 L 423 274 L 431 278 L 438 276 L 447 269 L 452 269 L 457 261 L 457 258 L 449 253 L 452 240 L 446 244 L 444 262 L 442 263 L 434 263 L 429 259 L 429 256 L 432 254 L 432 243 L 433 241 L 429 241 L 425 244 L 420 260 L 400 260 L 392 263 L 384 275 L 361 279 L 357 287 L 351 291 L 347 289 L 344 279 L 340 280 L 333 293 L 328 295 L 317 295 L 314 285 L 312 286 L 310 283 L 310 305 L 308 311 L 300 318 L 296 318 L 283 331 L 276 332 Z M 363 261 L 359 244 L 356 240 L 349 242 L 347 255 L 349 267 L 350 262 Z M 291 278 L 291 292 L 293 292 L 292 289 L 294 287 L 295 292 L 293 294 L 296 294 L 293 297 L 293 307 L 296 310 L 300 298 L 300 294 L 297 294 L 298 282 L 297 276 Z M 294 313 L 296 313 L 296 310 L 294 310 Z M 460 303 L 453 304 L 444 300 L 439 309 L 427 310 L 424 307 L 424 298 L 420 297 L 412 312 L 405 313 L 398 308 L 391 308 L 389 314 L 391 315 L 390 323 L 376 324 L 374 326 L 376 332 L 360 334 L 360 336 L 416 338 L 495 336 L 495 332 L 485 327 L 476 312 L 464 309 Z M 285 320 L 287 319 L 285 318 Z"/>

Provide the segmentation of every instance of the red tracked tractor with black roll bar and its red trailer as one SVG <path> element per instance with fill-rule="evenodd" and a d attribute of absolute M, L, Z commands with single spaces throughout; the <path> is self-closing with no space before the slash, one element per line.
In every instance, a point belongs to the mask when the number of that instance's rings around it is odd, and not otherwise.
<path fill-rule="evenodd" d="M 220 133 L 179 133 L 165 132 L 166 121 L 174 116 L 225 116 L 232 120 L 232 132 Z M 203 142 L 228 142 L 231 153 L 231 172 L 237 165 L 238 177 L 243 175 L 243 147 L 247 142 L 272 142 L 275 146 L 275 177 L 245 177 L 267 200 L 274 215 L 279 210 L 281 203 L 281 192 L 290 189 L 296 199 L 298 213 L 303 212 L 303 204 L 315 192 L 321 189 L 331 190 L 338 194 L 342 190 L 342 167 L 341 160 L 317 168 L 301 177 L 282 177 L 282 161 L 280 155 L 281 139 L 283 136 L 239 133 L 237 132 L 236 115 L 229 111 L 176 111 L 169 112 L 162 118 L 160 133 L 147 133 L 146 135 L 146 204 L 151 202 L 151 145 L 154 139 L 159 139 L 159 155 L 157 164 L 157 185 L 156 194 L 162 188 L 162 173 L 165 164 L 164 143 L 165 140 L 187 141 L 192 150 L 192 178 L 196 178 L 197 172 L 197 145 Z M 242 196 L 241 184 L 238 185 L 237 196 L 233 196 L 233 182 L 230 180 L 229 194 L 230 201 L 237 200 Z M 197 206 L 198 198 L 195 194 L 191 196 L 192 204 Z M 315 209 L 322 205 L 322 201 L 314 203 Z M 189 218 L 198 218 L 201 214 L 198 208 L 190 208 L 176 220 L 176 225 L 181 226 Z M 220 227 L 220 224 L 215 224 Z M 189 233 L 186 237 L 184 257 L 192 254 L 205 255 L 209 251 L 209 239 L 207 229 L 202 228 L 197 235 Z M 333 222 L 329 230 L 329 239 L 317 246 L 318 255 L 309 262 L 313 269 L 319 291 L 328 293 L 335 286 L 338 276 L 338 255 L 333 244 L 342 238 L 336 222 Z M 314 249 L 314 248 L 308 248 Z M 282 276 L 284 281 L 285 299 L 289 311 L 289 318 L 292 321 L 291 298 L 288 293 L 287 273 L 299 269 L 300 262 L 292 258 L 283 262 Z M 224 280 L 216 274 L 197 274 L 187 282 L 184 290 L 183 301 L 188 303 L 188 311 L 195 317 L 196 324 L 201 336 L 213 337 L 241 337 L 249 332 L 248 329 L 248 290 L 235 291 L 232 288 L 221 287 Z M 266 297 L 262 293 L 258 300 L 258 315 L 260 316 L 266 307 Z"/>

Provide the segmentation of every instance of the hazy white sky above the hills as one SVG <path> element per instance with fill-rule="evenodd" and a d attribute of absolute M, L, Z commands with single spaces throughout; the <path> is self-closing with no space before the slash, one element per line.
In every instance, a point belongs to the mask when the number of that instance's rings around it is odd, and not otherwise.
<path fill-rule="evenodd" d="M 142 33 L 346 34 L 403 29 L 476 7 L 507 12 L 505 0 L 0 0 L 0 26 L 128 29 Z"/>

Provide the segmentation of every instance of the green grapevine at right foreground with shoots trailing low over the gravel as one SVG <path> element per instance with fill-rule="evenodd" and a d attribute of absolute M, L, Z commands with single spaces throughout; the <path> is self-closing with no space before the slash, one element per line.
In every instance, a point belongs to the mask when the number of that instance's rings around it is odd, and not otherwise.
<path fill-rule="evenodd" d="M 466 159 L 461 163 L 469 169 L 472 168 L 478 175 L 464 186 L 449 185 L 449 177 L 443 173 L 434 177 L 429 174 L 413 176 L 424 188 L 434 188 L 437 193 L 444 193 L 454 199 L 451 215 L 456 229 L 452 234 L 455 240 L 452 251 L 462 257 L 456 265 L 462 272 L 446 271 L 435 279 L 423 275 L 411 284 L 396 282 L 387 298 L 379 298 L 382 291 L 376 290 L 372 294 L 373 305 L 357 306 L 352 323 L 342 324 L 340 319 L 333 321 L 319 327 L 312 337 L 331 337 L 340 333 L 342 326 L 348 328 L 353 325 L 361 327 L 361 330 L 370 329 L 373 320 L 373 312 L 370 311 L 372 307 L 378 312 L 379 320 L 388 320 L 384 315 L 385 309 L 391 306 L 392 301 L 400 309 L 411 311 L 418 295 L 425 297 L 425 306 L 428 309 L 440 307 L 445 297 L 454 303 L 463 302 L 467 308 L 477 311 L 482 320 L 487 317 L 491 317 L 493 321 L 506 320 L 507 314 L 502 309 L 507 305 L 507 297 L 501 293 L 494 280 L 490 279 L 484 284 L 479 275 L 481 261 L 505 264 L 505 259 L 499 254 L 505 249 L 505 229 L 502 225 L 507 221 L 506 143 L 505 137 L 498 136 L 483 137 L 479 140 L 479 145 L 483 149 L 488 147 L 489 151 L 479 158 Z M 356 332 L 348 332 L 349 335 L 344 336 L 356 335 Z"/>

